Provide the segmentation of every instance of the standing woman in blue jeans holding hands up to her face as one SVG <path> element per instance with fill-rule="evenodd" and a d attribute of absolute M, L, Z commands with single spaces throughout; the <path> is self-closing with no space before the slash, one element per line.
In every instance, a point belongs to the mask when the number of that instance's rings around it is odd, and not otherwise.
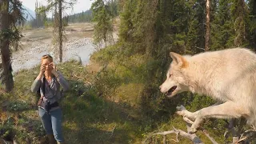
<path fill-rule="evenodd" d="M 40 90 L 41 98 L 38 101 L 38 111 L 50 144 L 56 143 L 56 141 L 64 142 L 62 110 L 58 104 L 58 100 L 62 97 L 61 87 L 63 91 L 68 90 L 68 82 L 56 69 L 53 58 L 49 54 L 43 55 L 40 72 L 35 78 L 31 90 L 34 93 Z"/>

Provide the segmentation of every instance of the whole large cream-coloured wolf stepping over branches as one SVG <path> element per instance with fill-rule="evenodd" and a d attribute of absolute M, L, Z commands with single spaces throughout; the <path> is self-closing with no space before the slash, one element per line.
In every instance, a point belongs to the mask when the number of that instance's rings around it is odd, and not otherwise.
<path fill-rule="evenodd" d="M 205 52 L 194 56 L 170 53 L 173 62 L 166 81 L 160 86 L 162 93 L 177 88 L 169 97 L 182 91 L 206 94 L 223 103 L 209 106 L 194 113 L 179 111 L 195 119 L 191 131 L 195 132 L 203 118 L 244 117 L 256 126 L 256 54 L 242 48 Z"/>

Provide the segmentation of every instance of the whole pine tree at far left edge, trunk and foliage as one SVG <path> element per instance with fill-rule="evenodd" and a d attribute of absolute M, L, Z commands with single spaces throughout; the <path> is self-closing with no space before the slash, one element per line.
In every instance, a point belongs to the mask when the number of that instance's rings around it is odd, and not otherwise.
<path fill-rule="evenodd" d="M 14 88 L 11 66 L 11 45 L 17 45 L 22 38 L 17 25 L 23 25 L 22 2 L 18 0 L 0 0 L 0 49 L 1 49 L 1 81 L 10 92 Z"/>

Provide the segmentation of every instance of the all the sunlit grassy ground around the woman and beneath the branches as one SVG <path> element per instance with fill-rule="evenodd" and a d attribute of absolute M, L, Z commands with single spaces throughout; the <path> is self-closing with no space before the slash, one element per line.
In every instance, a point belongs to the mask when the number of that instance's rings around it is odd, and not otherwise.
<path fill-rule="evenodd" d="M 146 82 L 142 78 L 143 73 L 138 74 L 138 71 L 129 70 L 126 66 L 115 66 L 112 62 L 105 72 L 98 74 L 102 65 L 96 59 L 101 58 L 102 54 L 104 51 L 94 54 L 92 63 L 86 67 L 74 61 L 58 65 L 58 69 L 70 82 L 70 90 L 62 100 L 66 143 L 142 143 L 150 134 L 171 130 L 173 126 L 186 130 L 186 124 L 180 117 L 162 114 L 160 110 L 159 118 L 152 118 L 143 112 L 141 95 Z M 142 57 L 134 56 L 130 62 L 137 70 L 146 69 L 142 67 L 145 62 Z M 36 107 L 38 98 L 30 92 L 38 69 L 36 66 L 15 74 L 15 88 L 10 94 L 0 90 L 2 138 L 14 138 L 21 144 L 46 143 Z M 86 82 L 93 83 L 93 86 L 85 85 Z M 101 94 L 102 91 L 108 92 Z M 218 134 L 217 131 L 210 130 L 210 134 L 223 143 L 222 137 L 214 135 Z M 222 130 L 219 134 L 223 134 Z M 198 136 L 205 143 L 210 143 L 204 134 L 198 132 Z M 175 138 L 175 135 L 167 136 L 167 143 L 173 143 L 171 138 Z M 190 143 L 185 138 L 179 140 L 180 143 Z M 154 136 L 147 143 L 162 143 L 162 136 Z"/>

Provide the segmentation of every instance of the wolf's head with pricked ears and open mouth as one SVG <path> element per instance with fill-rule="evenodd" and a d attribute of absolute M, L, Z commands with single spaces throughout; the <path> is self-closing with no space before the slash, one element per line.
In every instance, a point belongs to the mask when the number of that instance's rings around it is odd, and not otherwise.
<path fill-rule="evenodd" d="M 173 97 L 175 94 L 188 90 L 184 70 L 189 66 L 189 63 L 180 54 L 170 52 L 170 57 L 173 61 L 167 71 L 166 81 L 159 87 L 160 91 L 167 97 Z"/>

